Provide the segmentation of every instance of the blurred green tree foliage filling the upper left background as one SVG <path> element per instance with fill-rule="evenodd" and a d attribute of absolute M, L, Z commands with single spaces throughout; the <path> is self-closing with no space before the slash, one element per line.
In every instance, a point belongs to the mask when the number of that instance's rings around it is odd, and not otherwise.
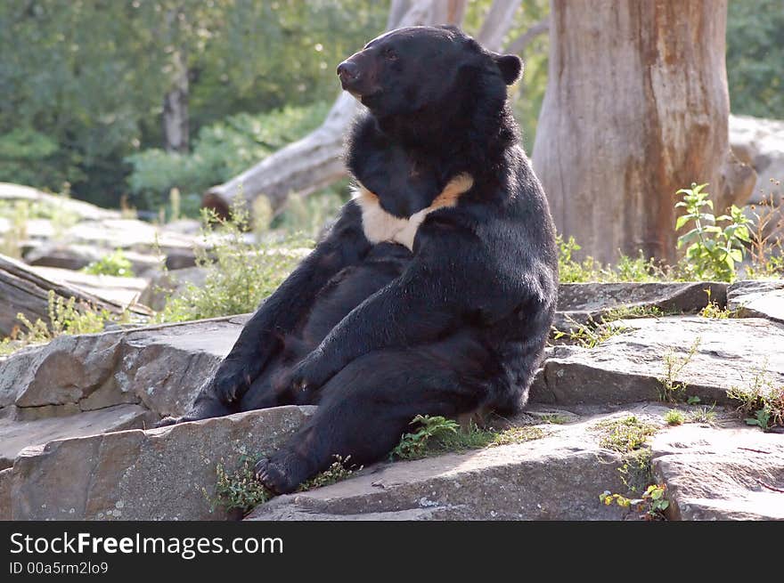
<path fill-rule="evenodd" d="M 331 101 L 335 65 L 387 12 L 363 0 L 0 3 L 0 180 L 69 181 L 116 206 L 124 159 L 163 145 L 164 95 L 183 55 L 197 135 L 241 111 Z"/>

